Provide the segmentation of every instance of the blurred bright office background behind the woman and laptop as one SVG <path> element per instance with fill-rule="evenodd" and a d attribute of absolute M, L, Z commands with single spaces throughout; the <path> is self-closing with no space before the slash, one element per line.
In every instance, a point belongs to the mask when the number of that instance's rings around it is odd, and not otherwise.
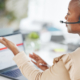
<path fill-rule="evenodd" d="M 68 33 L 60 23 L 69 1 L 0 0 L 0 36 L 20 32 L 26 54 L 35 52 L 51 65 L 53 58 L 80 46 L 79 35 Z"/>

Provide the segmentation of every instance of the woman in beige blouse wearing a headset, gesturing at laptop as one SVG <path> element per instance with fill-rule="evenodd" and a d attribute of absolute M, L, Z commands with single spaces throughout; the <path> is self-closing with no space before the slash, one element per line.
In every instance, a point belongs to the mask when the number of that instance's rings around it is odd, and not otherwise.
<path fill-rule="evenodd" d="M 71 0 L 68 7 L 68 13 L 65 17 L 67 22 L 77 22 L 80 17 L 80 0 Z M 68 24 L 66 25 L 69 33 L 80 34 L 80 24 Z M 80 48 L 72 53 L 62 55 L 55 58 L 51 67 L 39 65 L 46 63 L 36 54 L 29 55 L 36 60 L 36 64 L 39 68 L 44 70 L 43 72 L 37 70 L 30 62 L 24 52 L 19 52 L 16 45 L 5 38 L 0 39 L 0 43 L 8 47 L 15 57 L 13 58 L 23 75 L 28 80 L 80 80 Z"/>

